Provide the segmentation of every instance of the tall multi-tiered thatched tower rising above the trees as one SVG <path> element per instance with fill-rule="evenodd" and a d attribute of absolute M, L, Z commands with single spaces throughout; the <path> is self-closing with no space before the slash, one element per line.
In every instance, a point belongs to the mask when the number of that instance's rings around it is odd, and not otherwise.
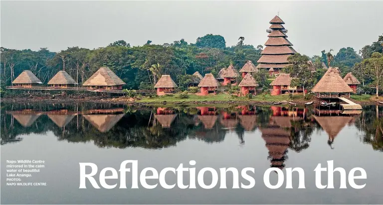
<path fill-rule="evenodd" d="M 275 16 L 269 23 L 271 26 L 266 30 L 269 33 L 267 35 L 268 40 L 265 43 L 266 47 L 261 52 L 262 56 L 257 61 L 257 68 L 265 68 L 271 74 L 278 74 L 280 69 L 289 65 L 287 58 L 297 51 L 291 47 L 293 44 L 287 40 L 287 30 L 282 25 L 285 22 L 279 16 Z"/>

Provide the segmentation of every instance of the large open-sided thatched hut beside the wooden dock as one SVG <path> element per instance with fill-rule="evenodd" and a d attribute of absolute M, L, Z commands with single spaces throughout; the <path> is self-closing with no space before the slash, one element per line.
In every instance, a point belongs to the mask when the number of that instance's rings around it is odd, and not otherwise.
<path fill-rule="evenodd" d="M 330 67 L 312 91 L 317 98 L 338 98 L 342 94 L 350 95 L 353 89 L 342 79 L 338 68 Z"/>

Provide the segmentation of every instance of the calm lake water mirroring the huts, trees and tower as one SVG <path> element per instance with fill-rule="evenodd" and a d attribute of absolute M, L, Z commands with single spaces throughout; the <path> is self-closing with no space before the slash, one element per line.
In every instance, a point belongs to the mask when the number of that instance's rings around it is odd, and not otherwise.
<path fill-rule="evenodd" d="M 323 111 L 323 110 L 322 110 Z M 383 202 L 383 107 L 366 106 L 359 114 L 324 114 L 290 106 L 129 107 L 111 104 L 3 104 L 1 107 L 2 204 L 381 204 Z M 6 160 L 44 160 L 45 168 L 22 182 L 46 182 L 45 187 L 6 186 Z M 255 187 L 210 190 L 79 188 L 79 163 L 99 170 L 119 170 L 124 160 L 138 160 L 139 172 L 184 167 L 195 160 L 204 167 L 255 168 Z M 334 160 L 348 173 L 361 167 L 366 187 L 317 189 L 315 167 Z M 283 172 L 301 167 L 306 189 L 286 184 L 276 190 L 263 183 L 270 167 Z M 184 176 L 189 181 L 188 176 Z M 276 184 L 278 175 L 270 174 Z M 98 178 L 96 178 L 98 179 Z M 204 176 L 205 184 L 211 175 Z M 168 184 L 177 180 L 167 174 Z M 112 182 L 112 181 L 111 181 Z M 115 180 L 119 184 L 119 180 Z M 150 183 L 152 182 L 152 183 Z M 242 179 L 240 178 L 240 182 Z M 246 181 L 243 181 L 244 183 Z M 154 184 L 150 181 L 148 184 Z M 327 175 L 322 174 L 322 184 Z"/>

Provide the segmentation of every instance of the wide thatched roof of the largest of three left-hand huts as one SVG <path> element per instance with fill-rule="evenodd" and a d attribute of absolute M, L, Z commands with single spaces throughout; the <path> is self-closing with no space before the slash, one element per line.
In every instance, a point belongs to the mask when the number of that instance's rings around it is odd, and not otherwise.
<path fill-rule="evenodd" d="M 101 67 L 98 69 L 88 80 L 86 80 L 82 85 L 84 86 L 115 86 L 115 85 L 125 85 L 112 70 L 108 67 Z"/>

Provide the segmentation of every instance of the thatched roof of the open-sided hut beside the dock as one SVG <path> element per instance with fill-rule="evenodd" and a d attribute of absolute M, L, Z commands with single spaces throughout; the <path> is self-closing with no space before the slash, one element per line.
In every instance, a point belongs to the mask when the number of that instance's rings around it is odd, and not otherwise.
<path fill-rule="evenodd" d="M 342 79 L 338 68 L 330 67 L 312 89 L 313 92 L 343 93 L 353 89 Z"/>

